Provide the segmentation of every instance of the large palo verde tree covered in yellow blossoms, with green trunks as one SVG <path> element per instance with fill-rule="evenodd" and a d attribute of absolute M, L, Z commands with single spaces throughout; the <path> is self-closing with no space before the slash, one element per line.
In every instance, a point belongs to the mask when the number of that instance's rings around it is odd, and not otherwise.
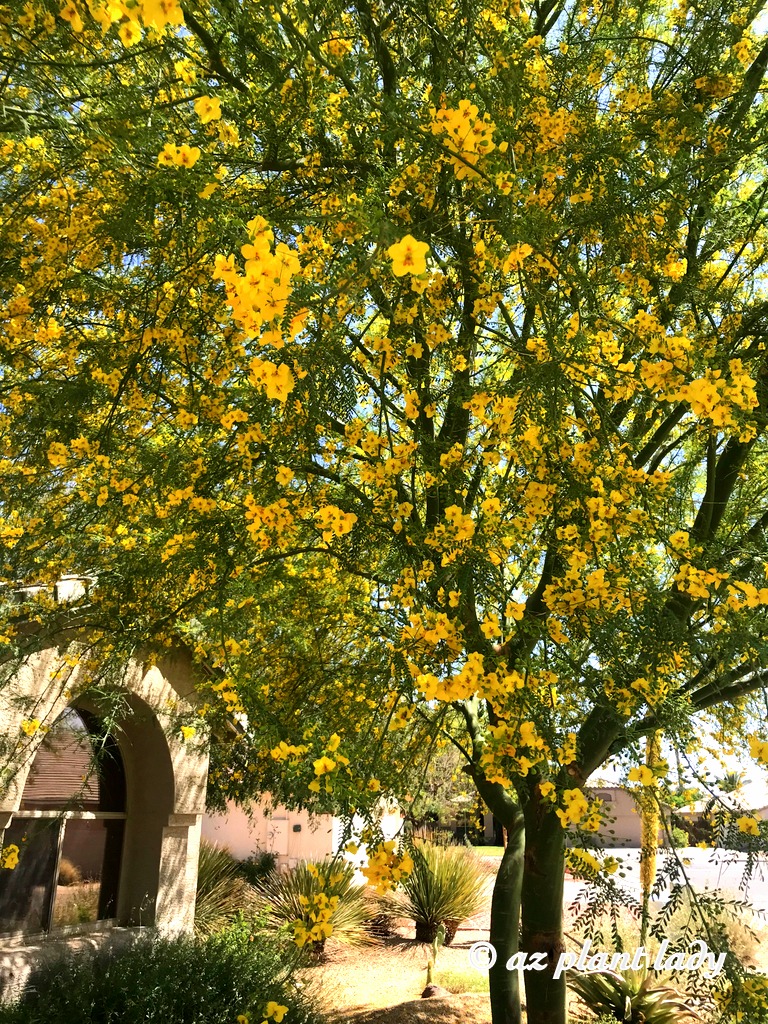
<path fill-rule="evenodd" d="M 518 934 L 528 1020 L 565 1019 L 606 759 L 768 761 L 761 6 L 3 9 L 5 582 L 92 574 L 106 647 L 190 637 L 241 793 L 282 766 L 351 812 L 362 740 L 444 727 L 509 835 L 495 1024 Z M 333 655 L 284 675 L 312 594 Z"/>

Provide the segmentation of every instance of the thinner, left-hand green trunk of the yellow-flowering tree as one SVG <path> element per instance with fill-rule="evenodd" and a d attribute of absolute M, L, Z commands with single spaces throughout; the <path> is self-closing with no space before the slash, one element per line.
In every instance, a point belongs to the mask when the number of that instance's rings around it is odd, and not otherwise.
<path fill-rule="evenodd" d="M 497 959 L 488 974 L 493 1024 L 520 1024 L 520 982 L 517 971 L 507 970 L 507 961 L 520 944 L 520 891 L 525 831 L 522 815 L 505 824 L 507 846 L 494 885 L 490 902 L 490 944 Z"/>

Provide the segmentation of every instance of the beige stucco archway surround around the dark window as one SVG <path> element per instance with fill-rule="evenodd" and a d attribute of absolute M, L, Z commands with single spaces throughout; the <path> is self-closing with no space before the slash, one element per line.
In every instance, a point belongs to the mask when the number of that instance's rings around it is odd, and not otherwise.
<path fill-rule="evenodd" d="M 82 645 L 31 654 L 0 687 L 0 829 L 18 808 L 43 729 L 70 705 L 98 713 L 89 697 Z M 184 740 L 179 714 L 194 711 L 191 663 L 178 651 L 152 664 L 130 662 L 110 684 L 122 695 L 115 737 L 125 764 L 126 827 L 117 916 L 165 934 L 190 932 L 208 774 L 202 730 Z M 83 695 L 78 696 L 82 693 Z"/>

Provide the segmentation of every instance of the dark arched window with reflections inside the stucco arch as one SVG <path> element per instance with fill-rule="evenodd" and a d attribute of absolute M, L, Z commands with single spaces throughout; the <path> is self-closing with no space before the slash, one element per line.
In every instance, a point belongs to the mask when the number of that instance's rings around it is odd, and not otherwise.
<path fill-rule="evenodd" d="M 98 717 L 69 707 L 35 754 L 3 846 L 0 933 L 48 932 L 117 918 L 126 778 L 118 742 Z"/>

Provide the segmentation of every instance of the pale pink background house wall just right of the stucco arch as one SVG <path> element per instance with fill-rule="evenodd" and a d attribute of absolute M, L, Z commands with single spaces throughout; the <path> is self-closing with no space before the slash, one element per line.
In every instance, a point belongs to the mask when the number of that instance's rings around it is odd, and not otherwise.
<path fill-rule="evenodd" d="M 387 839 L 402 827 L 399 810 L 382 807 L 381 826 Z M 254 803 L 249 811 L 228 804 L 223 814 L 203 816 L 203 838 L 226 847 L 238 860 L 255 854 L 274 855 L 278 867 L 293 867 L 300 860 L 322 860 L 340 852 L 342 822 L 330 814 L 310 815 L 285 807 Z M 350 857 L 355 860 L 356 858 Z"/>

